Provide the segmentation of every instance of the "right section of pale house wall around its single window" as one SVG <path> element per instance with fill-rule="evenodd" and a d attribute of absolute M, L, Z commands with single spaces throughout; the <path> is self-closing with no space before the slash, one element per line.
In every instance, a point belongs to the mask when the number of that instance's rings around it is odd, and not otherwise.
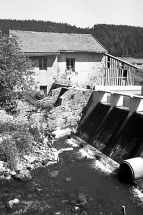
<path fill-rule="evenodd" d="M 66 69 L 66 59 L 75 59 L 75 71 Z M 99 53 L 61 53 L 56 81 L 76 87 L 102 85 L 104 55 Z"/>

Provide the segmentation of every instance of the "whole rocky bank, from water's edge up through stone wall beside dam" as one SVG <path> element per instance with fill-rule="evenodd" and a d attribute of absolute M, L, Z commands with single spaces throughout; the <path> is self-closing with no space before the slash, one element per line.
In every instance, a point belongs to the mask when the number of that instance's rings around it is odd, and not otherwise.
<path fill-rule="evenodd" d="M 76 131 L 91 95 L 86 89 L 61 92 L 60 88 L 52 90 L 36 103 L 38 109 L 30 115 L 29 106 L 21 101 L 16 117 L 0 111 L 0 180 L 30 180 L 31 170 L 58 161 L 60 152 L 52 143 Z"/>

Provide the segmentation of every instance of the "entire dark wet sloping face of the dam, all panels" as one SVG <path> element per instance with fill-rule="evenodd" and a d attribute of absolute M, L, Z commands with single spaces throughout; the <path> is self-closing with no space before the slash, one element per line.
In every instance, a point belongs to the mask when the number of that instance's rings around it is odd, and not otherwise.
<path fill-rule="evenodd" d="M 77 136 L 121 163 L 142 151 L 143 115 L 98 103 Z"/>

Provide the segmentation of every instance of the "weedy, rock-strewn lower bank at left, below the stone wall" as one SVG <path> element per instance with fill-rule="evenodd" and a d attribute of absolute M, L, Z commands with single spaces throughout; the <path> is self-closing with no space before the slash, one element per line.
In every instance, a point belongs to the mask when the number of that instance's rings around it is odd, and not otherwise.
<path fill-rule="evenodd" d="M 30 180 L 31 170 L 58 161 L 54 135 L 0 111 L 0 180 Z"/>

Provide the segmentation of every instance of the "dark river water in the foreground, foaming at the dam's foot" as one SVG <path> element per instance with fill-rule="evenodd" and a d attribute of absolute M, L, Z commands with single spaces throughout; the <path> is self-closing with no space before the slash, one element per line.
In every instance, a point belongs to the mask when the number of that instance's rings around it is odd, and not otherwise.
<path fill-rule="evenodd" d="M 84 148 L 61 139 L 55 148 L 69 148 L 58 163 L 32 171 L 32 180 L 0 182 L 0 215 L 142 215 L 140 191 L 120 182 L 100 161 L 88 156 Z M 8 200 L 20 203 L 10 210 Z"/>

